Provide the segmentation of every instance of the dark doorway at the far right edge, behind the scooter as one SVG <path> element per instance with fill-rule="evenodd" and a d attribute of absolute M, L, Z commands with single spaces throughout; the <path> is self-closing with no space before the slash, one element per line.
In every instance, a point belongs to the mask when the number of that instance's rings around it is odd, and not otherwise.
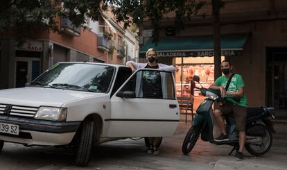
<path fill-rule="evenodd" d="M 287 47 L 267 49 L 266 103 L 287 110 Z"/>

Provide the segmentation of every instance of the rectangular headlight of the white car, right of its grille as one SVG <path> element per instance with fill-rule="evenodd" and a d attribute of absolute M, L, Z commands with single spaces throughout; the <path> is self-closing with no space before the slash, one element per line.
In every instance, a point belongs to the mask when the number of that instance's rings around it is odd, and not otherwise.
<path fill-rule="evenodd" d="M 34 118 L 50 121 L 66 121 L 67 108 L 41 106 L 35 114 Z"/>

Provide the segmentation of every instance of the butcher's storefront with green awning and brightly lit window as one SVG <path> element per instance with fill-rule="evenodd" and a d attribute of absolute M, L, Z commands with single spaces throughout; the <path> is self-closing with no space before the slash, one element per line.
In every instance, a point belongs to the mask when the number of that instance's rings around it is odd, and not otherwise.
<path fill-rule="evenodd" d="M 241 56 L 247 34 L 222 35 L 221 60 L 227 56 Z M 202 101 L 198 90 L 191 95 L 191 79 L 194 75 L 200 77 L 203 87 L 214 83 L 214 53 L 213 38 L 211 35 L 196 37 L 166 37 L 153 44 L 150 38 L 139 52 L 140 58 L 145 57 L 146 50 L 157 50 L 159 62 L 171 64 L 176 67 L 175 85 L 177 97 L 194 97 L 195 107 Z"/>

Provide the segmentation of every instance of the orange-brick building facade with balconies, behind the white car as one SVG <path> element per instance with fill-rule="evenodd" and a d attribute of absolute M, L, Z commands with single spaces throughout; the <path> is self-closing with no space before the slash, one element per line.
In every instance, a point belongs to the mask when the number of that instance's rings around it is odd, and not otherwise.
<path fill-rule="evenodd" d="M 125 30 L 103 12 L 98 22 L 89 19 L 87 29 L 60 19 L 60 33 L 33 31 L 20 47 L 15 36 L 0 35 L 0 89 L 24 87 L 57 62 L 107 62 L 123 65 Z M 135 35 L 134 35 L 135 36 Z M 138 44 L 134 39 L 135 46 Z"/>

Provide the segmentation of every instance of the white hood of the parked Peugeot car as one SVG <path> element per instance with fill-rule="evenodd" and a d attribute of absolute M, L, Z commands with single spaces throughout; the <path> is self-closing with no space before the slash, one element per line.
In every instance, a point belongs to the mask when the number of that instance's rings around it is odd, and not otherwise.
<path fill-rule="evenodd" d="M 32 107 L 39 107 L 41 105 L 60 107 L 67 102 L 103 95 L 104 94 L 100 93 L 76 90 L 23 87 L 0 90 L 0 104 L 27 105 Z"/>

